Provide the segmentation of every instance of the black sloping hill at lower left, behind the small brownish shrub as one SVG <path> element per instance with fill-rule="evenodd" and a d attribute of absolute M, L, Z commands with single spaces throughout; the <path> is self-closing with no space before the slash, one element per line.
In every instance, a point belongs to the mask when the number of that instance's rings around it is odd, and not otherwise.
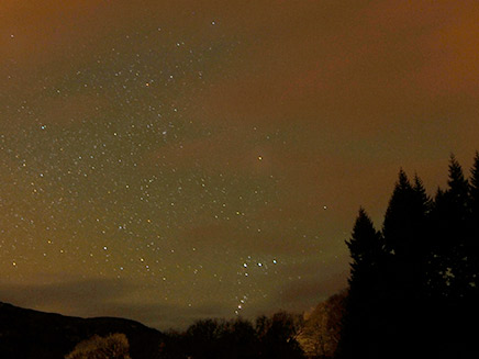
<path fill-rule="evenodd" d="M 135 359 L 159 358 L 164 335 L 138 322 L 116 317 L 81 318 L 0 302 L 0 358 L 64 359 L 93 335 L 123 333 Z"/>

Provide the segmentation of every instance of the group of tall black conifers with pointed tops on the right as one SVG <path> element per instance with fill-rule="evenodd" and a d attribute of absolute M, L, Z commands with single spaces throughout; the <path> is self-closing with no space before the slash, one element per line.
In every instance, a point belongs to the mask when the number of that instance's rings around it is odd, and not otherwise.
<path fill-rule="evenodd" d="M 360 209 L 346 244 L 337 358 L 479 358 L 478 153 L 469 179 L 452 156 L 434 198 L 401 170 L 381 231 Z"/>

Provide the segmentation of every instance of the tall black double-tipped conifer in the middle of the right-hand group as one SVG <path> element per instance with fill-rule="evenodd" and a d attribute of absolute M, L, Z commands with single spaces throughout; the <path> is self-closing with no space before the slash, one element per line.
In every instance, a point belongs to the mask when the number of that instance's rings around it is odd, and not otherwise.
<path fill-rule="evenodd" d="M 383 326 L 389 332 L 383 341 L 394 350 L 403 348 L 404 341 L 417 345 L 420 333 L 411 327 L 411 323 L 426 321 L 422 316 L 422 303 L 430 212 L 431 200 L 421 179 L 416 175 L 411 184 L 401 169 L 382 225 L 387 256 L 383 268 L 387 280 L 382 288 Z"/>

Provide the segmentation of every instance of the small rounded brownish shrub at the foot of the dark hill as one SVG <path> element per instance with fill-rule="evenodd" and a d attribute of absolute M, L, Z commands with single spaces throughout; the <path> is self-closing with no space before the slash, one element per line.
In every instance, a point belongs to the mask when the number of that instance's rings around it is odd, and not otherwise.
<path fill-rule="evenodd" d="M 98 335 L 80 341 L 65 359 L 131 359 L 129 340 L 124 334 L 107 337 Z"/>

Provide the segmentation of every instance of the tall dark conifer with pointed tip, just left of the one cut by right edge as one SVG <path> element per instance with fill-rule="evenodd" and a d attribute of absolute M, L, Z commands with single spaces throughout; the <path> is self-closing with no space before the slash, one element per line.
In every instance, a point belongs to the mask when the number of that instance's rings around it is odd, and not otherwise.
<path fill-rule="evenodd" d="M 477 301 L 470 287 L 475 261 L 471 254 L 471 189 L 459 162 L 450 156 L 446 190 L 438 190 L 434 201 L 432 246 L 427 266 L 430 290 L 430 332 L 442 351 L 453 346 L 470 350 L 469 337 L 477 315 Z M 441 319 L 435 313 L 443 313 Z M 449 346 L 449 348 L 446 348 Z M 456 354 L 457 357 L 460 357 Z"/>

